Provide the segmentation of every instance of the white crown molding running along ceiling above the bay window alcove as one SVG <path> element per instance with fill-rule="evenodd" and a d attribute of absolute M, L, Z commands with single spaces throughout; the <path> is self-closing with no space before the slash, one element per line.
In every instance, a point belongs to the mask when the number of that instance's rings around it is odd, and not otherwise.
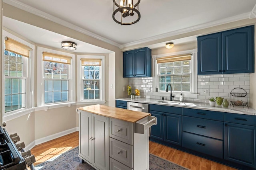
<path fill-rule="evenodd" d="M 32 13 L 32 14 L 34 14 L 36 16 L 40 16 L 40 17 L 42 17 L 42 18 L 44 18 L 46 20 L 50 20 L 52 22 L 58 23 L 60 25 L 63 25 L 65 27 L 68 27 L 68 28 L 73 29 L 75 31 L 78 31 L 80 33 L 88 35 L 90 37 L 96 38 L 96 39 L 98 39 L 100 41 L 104 41 L 104 42 L 109 43 L 111 45 L 114 45 L 116 47 L 120 47 L 120 44 L 118 44 L 118 43 L 116 43 L 114 41 L 111 41 L 110 39 L 106 39 L 104 37 L 101 37 L 100 35 L 97 35 L 95 33 L 87 31 L 86 29 L 78 27 L 78 26 L 76 26 L 76 25 L 74 25 L 72 23 L 69 23 L 67 21 L 61 20 L 60 18 L 54 17 L 54 16 L 52 16 L 50 14 L 47 14 L 45 12 L 42 12 L 42 11 L 36 9 L 36 8 L 33 8 L 33 7 L 28 6 L 26 4 L 23 4 L 22 2 L 19 2 L 18 0 L 4 0 L 4 3 L 9 4 L 11 6 L 14 6 L 16 8 L 19 8 L 21 10 L 24 10 L 26 12 Z"/>

